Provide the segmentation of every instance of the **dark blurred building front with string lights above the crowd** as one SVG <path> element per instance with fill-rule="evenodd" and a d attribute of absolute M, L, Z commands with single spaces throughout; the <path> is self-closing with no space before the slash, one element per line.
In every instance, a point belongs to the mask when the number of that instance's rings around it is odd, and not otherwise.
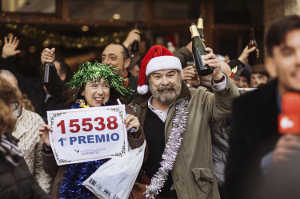
<path fill-rule="evenodd" d="M 249 42 L 251 28 L 263 49 L 268 24 L 297 12 L 298 4 L 298 0 L 1 0 L 0 45 L 7 34 L 18 36 L 22 50 L 18 67 L 35 76 L 45 47 L 55 47 L 75 70 L 86 60 L 99 59 L 108 43 L 123 41 L 137 22 L 143 32 L 141 51 L 167 42 L 179 48 L 190 41 L 189 25 L 202 16 L 207 45 L 217 54 L 236 58 Z"/>

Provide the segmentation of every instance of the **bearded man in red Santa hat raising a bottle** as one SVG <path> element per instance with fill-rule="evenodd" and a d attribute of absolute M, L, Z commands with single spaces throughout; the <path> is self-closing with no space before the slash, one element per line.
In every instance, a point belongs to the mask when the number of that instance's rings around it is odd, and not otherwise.
<path fill-rule="evenodd" d="M 211 57 L 215 55 L 204 57 L 210 66 L 215 61 Z M 149 185 L 151 180 L 147 197 L 159 193 L 158 198 L 219 198 L 209 123 L 230 115 L 231 100 L 238 90 L 216 67 L 212 75 L 215 94 L 202 87 L 190 92 L 182 82 L 181 71 L 180 60 L 159 45 L 142 60 L 137 90 L 147 94 L 149 87 L 150 94 L 131 106 L 143 118 L 140 122 L 148 153 L 133 195 L 145 191 L 141 183 Z"/>

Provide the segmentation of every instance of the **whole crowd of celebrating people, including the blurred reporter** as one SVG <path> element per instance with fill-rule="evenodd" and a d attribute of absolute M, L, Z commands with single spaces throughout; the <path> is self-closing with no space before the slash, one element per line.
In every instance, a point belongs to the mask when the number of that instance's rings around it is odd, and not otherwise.
<path fill-rule="evenodd" d="M 45 83 L 42 75 L 20 73 L 14 64 L 19 39 L 4 38 L 1 198 L 96 198 L 82 183 L 110 159 L 58 166 L 47 111 L 117 105 L 119 99 L 130 147 L 146 141 L 129 198 L 299 198 L 300 129 L 280 134 L 278 115 L 285 111 L 282 98 L 300 92 L 300 16 L 271 25 L 264 63 L 249 64 L 256 47 L 231 60 L 207 47 L 202 61 L 213 73 L 206 76 L 197 73 L 192 42 L 174 53 L 153 45 L 145 54 L 133 52 L 134 42 L 141 42 L 137 29 L 123 43 L 107 45 L 101 63 L 91 60 L 77 71 L 55 48 L 45 48 L 41 74 L 52 63 Z M 294 115 L 299 125 L 300 113 Z"/>

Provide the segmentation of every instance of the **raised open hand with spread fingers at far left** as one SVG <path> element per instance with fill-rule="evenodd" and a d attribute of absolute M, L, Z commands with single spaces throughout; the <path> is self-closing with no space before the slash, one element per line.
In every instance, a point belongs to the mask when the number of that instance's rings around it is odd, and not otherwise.
<path fill-rule="evenodd" d="M 17 37 L 14 37 L 12 34 L 8 37 L 4 37 L 4 46 L 2 49 L 2 58 L 6 59 L 11 56 L 19 54 L 21 51 L 16 50 L 19 45 L 19 40 Z"/>

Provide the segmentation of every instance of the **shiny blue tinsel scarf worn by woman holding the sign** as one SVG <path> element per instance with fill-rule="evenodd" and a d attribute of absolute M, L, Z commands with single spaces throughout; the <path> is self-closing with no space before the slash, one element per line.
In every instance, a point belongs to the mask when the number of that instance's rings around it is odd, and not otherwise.
<path fill-rule="evenodd" d="M 73 108 L 85 107 L 84 99 L 76 101 Z M 109 159 L 90 161 L 67 165 L 64 170 L 63 181 L 59 190 L 59 199 L 91 199 L 92 192 L 86 189 L 82 183 L 90 177 L 102 164 Z"/>

